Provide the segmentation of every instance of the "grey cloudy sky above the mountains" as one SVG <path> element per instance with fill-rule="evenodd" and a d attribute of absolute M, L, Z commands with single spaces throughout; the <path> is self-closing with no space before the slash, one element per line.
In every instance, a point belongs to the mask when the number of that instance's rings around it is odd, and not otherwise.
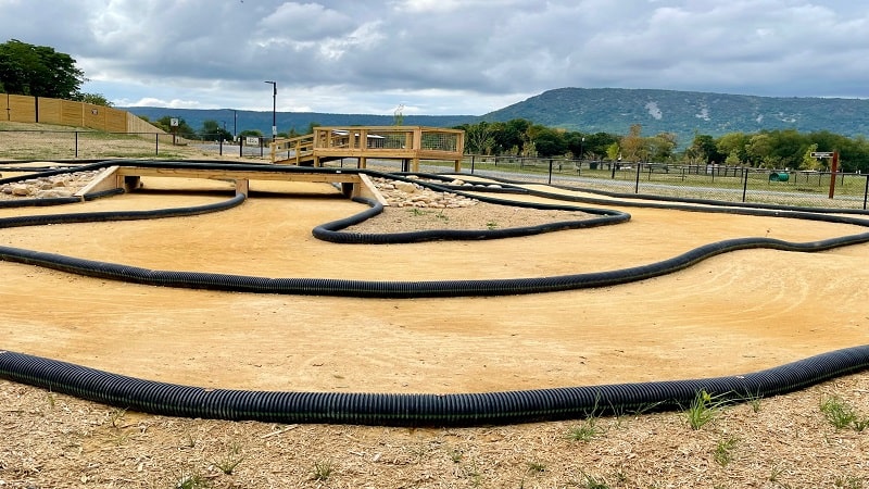
<path fill-rule="evenodd" d="M 118 106 L 481 115 L 545 90 L 869 98 L 861 0 L 0 0 Z"/>

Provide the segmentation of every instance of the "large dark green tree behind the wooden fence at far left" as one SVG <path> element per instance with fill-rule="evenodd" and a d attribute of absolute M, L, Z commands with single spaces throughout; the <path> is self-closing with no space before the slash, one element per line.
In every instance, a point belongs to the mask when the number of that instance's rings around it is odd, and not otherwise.
<path fill-rule="evenodd" d="M 75 100 L 85 74 L 68 54 L 17 39 L 0 45 L 0 90 L 7 93 Z"/>

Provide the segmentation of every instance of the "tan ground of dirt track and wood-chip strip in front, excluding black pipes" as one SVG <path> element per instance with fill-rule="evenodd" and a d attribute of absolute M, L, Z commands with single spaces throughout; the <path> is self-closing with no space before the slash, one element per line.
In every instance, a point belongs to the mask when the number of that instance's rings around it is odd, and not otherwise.
<path fill-rule="evenodd" d="M 221 183 L 144 184 L 147 192 L 25 212 L 158 209 L 231 196 Z M 624 268 L 728 238 L 811 241 L 865 231 L 622 209 L 632 215 L 626 224 L 527 238 L 331 244 L 311 229 L 360 204 L 325 185 L 252 189 L 252 199 L 226 212 L 2 229 L 0 246 L 162 269 L 427 280 Z M 0 217 L 22 213 L 0 209 Z M 730 375 L 866 343 L 867 255 L 867 244 L 814 254 L 750 250 L 605 289 L 415 300 L 168 289 L 0 262 L 0 348 L 154 380 L 268 390 L 471 392 Z M 0 449 L 0 482 L 181 487 L 202 475 L 214 487 L 253 488 L 860 487 L 846 485 L 869 474 L 866 432 L 834 430 L 818 404 L 844 396 L 869 413 L 867 389 L 865 375 L 852 376 L 765 400 L 759 414 L 733 408 L 701 431 L 681 414 L 602 419 L 587 444 L 566 438 L 579 422 L 403 430 L 189 421 L 118 413 L 3 381 L 9 408 L 0 409 L 0 426 L 13 443 Z M 721 464 L 713 454 L 731 438 L 733 461 Z M 232 475 L 216 467 L 226 457 L 243 460 Z M 318 478 L 316 465 L 325 463 L 333 473 Z"/>

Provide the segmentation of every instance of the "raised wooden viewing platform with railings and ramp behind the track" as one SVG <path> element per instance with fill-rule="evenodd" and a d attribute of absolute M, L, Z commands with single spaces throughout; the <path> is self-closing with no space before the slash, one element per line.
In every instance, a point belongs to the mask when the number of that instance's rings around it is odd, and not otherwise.
<path fill-rule="evenodd" d="M 402 168 L 419 171 L 424 160 L 453 162 L 462 171 L 465 131 L 423 126 L 315 127 L 297 138 L 278 138 L 270 145 L 272 163 L 323 166 L 330 160 L 355 159 L 358 168 L 367 160 L 401 160 Z"/>

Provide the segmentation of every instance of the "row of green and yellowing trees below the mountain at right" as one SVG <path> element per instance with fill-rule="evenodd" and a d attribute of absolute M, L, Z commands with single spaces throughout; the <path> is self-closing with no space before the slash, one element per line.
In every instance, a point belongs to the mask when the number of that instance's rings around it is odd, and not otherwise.
<path fill-rule="evenodd" d="M 830 131 L 802 134 L 795 129 L 729 133 L 720 137 L 695 134 L 678 150 L 672 133 L 643 136 L 632 125 L 626 135 L 581 133 L 533 124 L 525 118 L 456 126 L 465 130 L 469 154 L 569 158 L 594 161 L 721 164 L 759 168 L 828 170 L 830 160 L 815 151 L 839 151 L 843 172 L 869 171 L 869 140 Z"/>

